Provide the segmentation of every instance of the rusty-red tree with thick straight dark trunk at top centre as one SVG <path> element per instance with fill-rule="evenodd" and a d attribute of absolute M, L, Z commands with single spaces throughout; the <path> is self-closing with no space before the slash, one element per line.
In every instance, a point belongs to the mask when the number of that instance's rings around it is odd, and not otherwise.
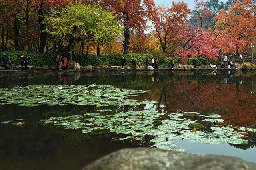
<path fill-rule="evenodd" d="M 147 16 L 154 7 L 153 0 L 102 0 L 104 6 L 117 15 L 125 28 L 123 54 L 128 54 L 130 45 L 130 32 L 144 34 Z"/>

